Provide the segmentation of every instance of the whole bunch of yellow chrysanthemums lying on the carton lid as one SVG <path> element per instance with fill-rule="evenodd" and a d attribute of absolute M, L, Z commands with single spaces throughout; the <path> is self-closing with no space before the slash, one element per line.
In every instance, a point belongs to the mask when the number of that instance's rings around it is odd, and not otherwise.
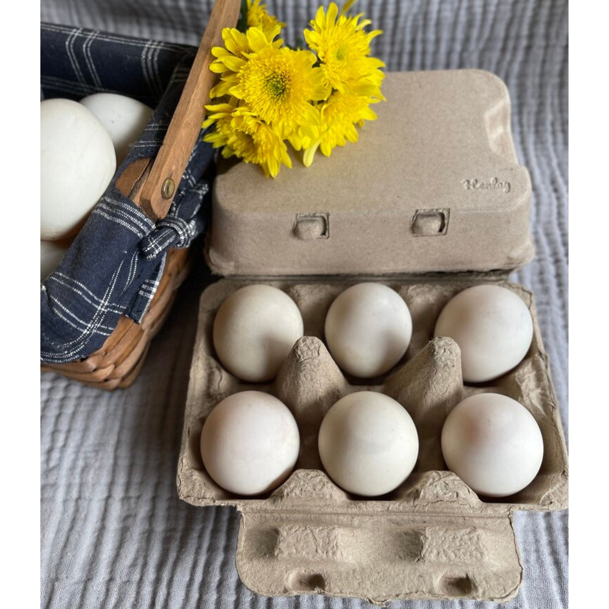
<path fill-rule="evenodd" d="M 278 36 L 285 25 L 266 12 L 261 0 L 244 0 L 238 28 L 222 31 L 224 47 L 214 47 L 210 69 L 220 75 L 211 90 L 203 127 L 205 141 L 262 167 L 275 177 L 292 166 L 287 144 L 302 151 L 309 167 L 319 149 L 357 141 L 357 126 L 373 121 L 371 104 L 384 97 L 384 63 L 370 56 L 369 19 L 348 15 L 353 0 L 339 10 L 317 10 L 304 30 L 308 49 L 289 48 Z"/>

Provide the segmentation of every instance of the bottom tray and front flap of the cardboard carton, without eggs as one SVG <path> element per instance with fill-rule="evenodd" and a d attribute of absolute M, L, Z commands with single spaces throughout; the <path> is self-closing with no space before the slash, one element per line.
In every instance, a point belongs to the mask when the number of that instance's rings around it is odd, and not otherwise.
<path fill-rule="evenodd" d="M 180 498 L 193 505 L 234 505 L 241 512 L 236 563 L 250 590 L 267 596 L 325 594 L 361 597 L 374 604 L 394 599 L 484 599 L 516 595 L 523 565 L 513 529 L 516 510 L 567 507 L 568 465 L 560 414 L 532 294 L 508 281 L 448 276 L 379 280 L 404 298 L 413 334 L 406 355 L 376 379 L 346 376 L 323 342 L 332 301 L 361 278 L 324 280 L 220 280 L 200 300 L 178 462 Z M 512 371 L 484 384 L 463 384 L 460 350 L 449 338 L 434 338 L 440 311 L 458 292 L 482 283 L 515 292 L 529 307 L 533 340 Z M 235 290 L 267 283 L 298 305 L 305 336 L 295 343 L 270 384 L 242 382 L 217 359 L 213 320 Z M 200 434 L 211 409 L 232 393 L 259 390 L 279 398 L 294 415 L 300 454 L 284 484 L 267 495 L 244 498 L 220 488 L 205 471 Z M 339 488 L 323 470 L 317 434 L 328 409 L 351 392 L 382 392 L 400 402 L 417 426 L 417 465 L 391 493 L 361 498 Z M 510 396 L 537 421 L 544 457 L 535 479 L 516 495 L 476 495 L 442 458 L 440 433 L 459 401 L 481 392 Z"/>

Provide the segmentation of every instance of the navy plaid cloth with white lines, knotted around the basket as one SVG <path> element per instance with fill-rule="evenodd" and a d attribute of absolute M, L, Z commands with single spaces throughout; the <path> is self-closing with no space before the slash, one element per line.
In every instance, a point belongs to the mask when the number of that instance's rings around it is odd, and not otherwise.
<path fill-rule="evenodd" d="M 196 50 L 42 24 L 41 95 L 79 100 L 120 93 L 156 108 L 118 168 L 120 175 L 136 159 L 157 155 Z M 41 361 L 58 364 L 90 355 L 123 314 L 141 322 L 167 250 L 188 247 L 206 227 L 212 160 L 211 146 L 199 138 L 169 214 L 156 224 L 112 181 L 57 270 L 41 284 Z"/>

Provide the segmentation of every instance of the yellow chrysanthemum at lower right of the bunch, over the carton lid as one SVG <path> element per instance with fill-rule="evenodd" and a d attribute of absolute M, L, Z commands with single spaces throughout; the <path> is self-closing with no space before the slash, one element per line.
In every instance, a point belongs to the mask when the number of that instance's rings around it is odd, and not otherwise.
<path fill-rule="evenodd" d="M 320 114 L 319 136 L 305 150 L 303 162 L 309 167 L 313 162 L 315 151 L 319 147 L 322 153 L 329 157 L 336 146 L 345 146 L 347 141 L 357 141 L 356 125 L 364 125 L 364 121 L 374 121 L 376 114 L 370 108 L 379 100 L 356 93 L 340 93 L 334 91 L 327 102 L 319 104 Z"/>

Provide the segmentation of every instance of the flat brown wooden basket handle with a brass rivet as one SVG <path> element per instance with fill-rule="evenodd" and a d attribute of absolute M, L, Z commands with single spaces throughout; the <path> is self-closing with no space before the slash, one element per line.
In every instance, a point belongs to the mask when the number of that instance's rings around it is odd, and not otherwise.
<path fill-rule="evenodd" d="M 132 163 L 116 181 L 116 186 L 155 222 L 167 215 L 199 137 L 204 105 L 209 103 L 209 91 L 217 79 L 209 70 L 214 59 L 211 49 L 222 45 L 222 29 L 236 26 L 240 8 L 240 0 L 216 0 L 157 157 Z"/>

